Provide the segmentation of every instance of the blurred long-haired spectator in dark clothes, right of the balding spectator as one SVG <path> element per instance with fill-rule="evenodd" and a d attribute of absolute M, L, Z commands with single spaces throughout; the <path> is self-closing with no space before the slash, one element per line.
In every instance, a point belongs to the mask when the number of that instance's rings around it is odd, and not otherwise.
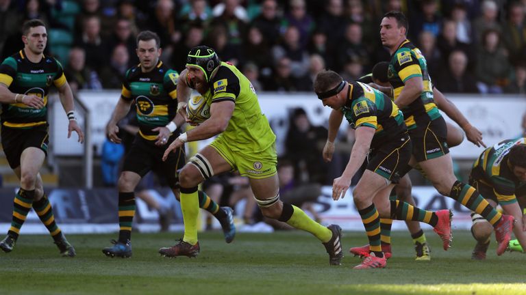
<path fill-rule="evenodd" d="M 499 32 L 489 29 L 482 34 L 482 47 L 477 51 L 476 75 L 481 93 L 502 93 L 508 83 L 510 64 L 500 44 Z"/>

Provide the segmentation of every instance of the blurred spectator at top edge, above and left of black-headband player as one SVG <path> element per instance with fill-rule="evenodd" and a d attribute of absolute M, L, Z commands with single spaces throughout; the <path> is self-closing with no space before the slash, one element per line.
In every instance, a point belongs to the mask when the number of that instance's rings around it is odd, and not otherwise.
<path fill-rule="evenodd" d="M 307 48 L 315 24 L 307 12 L 305 0 L 290 0 L 290 11 L 286 14 L 283 25 L 284 27 L 297 27 L 301 47 Z"/>

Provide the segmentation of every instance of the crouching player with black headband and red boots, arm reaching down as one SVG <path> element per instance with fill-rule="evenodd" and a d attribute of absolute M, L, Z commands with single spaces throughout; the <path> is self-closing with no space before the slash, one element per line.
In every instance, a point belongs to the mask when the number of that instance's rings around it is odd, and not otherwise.
<path fill-rule="evenodd" d="M 329 140 L 345 115 L 355 131 L 355 143 L 349 163 L 334 180 L 332 197 L 344 197 L 351 179 L 364 160 L 367 167 L 353 190 L 353 199 L 369 240 L 369 253 L 355 269 L 384 268 L 386 257 L 381 249 L 380 216 L 388 219 L 428 223 L 442 238 L 444 250 L 451 242 L 451 211 L 430 212 L 402 201 L 389 201 L 389 194 L 403 171 L 408 171 L 412 143 L 403 114 L 388 96 L 360 82 L 342 81 L 332 71 L 322 71 L 314 80 L 314 91 L 324 106 L 333 109 L 329 117 Z M 373 150 L 373 152 L 369 152 Z"/>

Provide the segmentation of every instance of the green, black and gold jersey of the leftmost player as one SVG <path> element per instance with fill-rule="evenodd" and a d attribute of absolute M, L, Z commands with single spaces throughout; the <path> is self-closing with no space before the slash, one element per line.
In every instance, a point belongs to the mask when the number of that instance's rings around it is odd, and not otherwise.
<path fill-rule="evenodd" d="M 16 94 L 34 94 L 44 100 L 42 109 L 27 107 L 22 102 L 2 104 L 3 126 L 32 128 L 47 124 L 47 97 L 49 87 L 62 87 L 66 83 L 62 65 L 53 57 L 42 55 L 40 62 L 27 59 L 24 50 L 6 58 L 0 65 L 0 83 Z M 19 101 L 19 100 L 18 100 Z"/>

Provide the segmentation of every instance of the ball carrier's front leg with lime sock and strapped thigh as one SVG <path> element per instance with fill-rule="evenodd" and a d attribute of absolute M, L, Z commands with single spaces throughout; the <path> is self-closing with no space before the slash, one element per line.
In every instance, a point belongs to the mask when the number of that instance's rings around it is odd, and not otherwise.
<path fill-rule="evenodd" d="M 188 256 L 199 254 L 197 239 L 197 216 L 199 214 L 199 191 L 197 186 L 214 174 L 230 171 L 232 165 L 211 145 L 207 145 L 190 159 L 179 171 L 179 192 L 181 211 L 184 221 L 184 236 L 173 247 L 159 249 L 166 257 Z"/>

